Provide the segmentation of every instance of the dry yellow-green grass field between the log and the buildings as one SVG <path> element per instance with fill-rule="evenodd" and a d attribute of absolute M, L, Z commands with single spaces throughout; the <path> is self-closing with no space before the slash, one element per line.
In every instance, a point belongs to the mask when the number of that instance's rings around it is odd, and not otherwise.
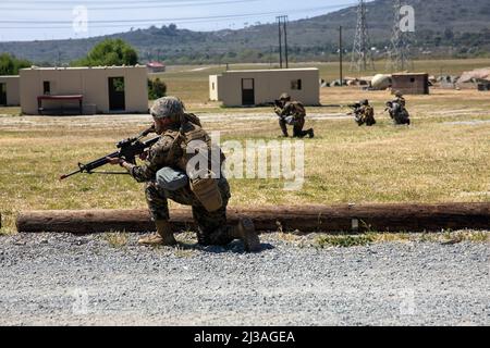
<path fill-rule="evenodd" d="M 461 72 L 483 64 L 490 62 L 440 62 L 433 69 Z M 333 66 L 322 69 L 327 74 Z M 182 73 L 177 67 L 163 78 L 169 94 L 203 115 L 208 130 L 220 130 L 222 141 L 277 139 L 270 109 L 228 110 L 206 101 L 207 76 L 216 70 Z M 430 96 L 407 96 L 414 124 L 395 127 L 383 113 L 388 91 L 321 90 L 322 104 L 366 97 L 377 112 L 378 125 L 371 128 L 342 116 L 346 109 L 307 108 L 307 126 L 317 137 L 305 139 L 303 190 L 285 191 L 281 179 L 231 179 L 231 206 L 490 202 L 490 94 L 432 89 Z M 149 124 L 149 116 L 33 117 L 16 115 L 17 108 L 0 109 L 0 114 L 1 233 L 15 231 L 20 210 L 146 207 L 143 186 L 128 176 L 58 178 L 77 162 L 112 152 L 118 140 Z"/>

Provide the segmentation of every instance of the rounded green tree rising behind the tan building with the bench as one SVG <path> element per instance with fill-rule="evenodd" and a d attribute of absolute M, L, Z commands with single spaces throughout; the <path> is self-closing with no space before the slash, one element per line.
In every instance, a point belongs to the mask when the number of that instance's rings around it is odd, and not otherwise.
<path fill-rule="evenodd" d="M 72 66 L 136 65 L 138 53 L 121 39 L 107 39 L 96 45 L 86 58 L 72 62 Z"/>

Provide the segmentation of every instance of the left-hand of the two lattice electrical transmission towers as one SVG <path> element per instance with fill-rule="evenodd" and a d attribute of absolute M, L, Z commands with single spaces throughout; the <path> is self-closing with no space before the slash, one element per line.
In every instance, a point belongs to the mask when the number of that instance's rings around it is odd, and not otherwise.
<path fill-rule="evenodd" d="M 352 51 L 351 71 L 375 70 L 375 59 L 371 53 L 368 26 L 366 21 L 366 2 L 359 0 L 357 7 L 357 25 Z"/>

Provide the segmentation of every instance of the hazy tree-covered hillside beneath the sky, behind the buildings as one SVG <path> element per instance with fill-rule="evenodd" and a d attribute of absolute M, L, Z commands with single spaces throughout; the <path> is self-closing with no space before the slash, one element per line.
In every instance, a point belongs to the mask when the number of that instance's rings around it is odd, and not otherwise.
<path fill-rule="evenodd" d="M 407 0 L 416 11 L 414 50 L 433 55 L 479 55 L 490 51 L 490 2 L 488 0 Z M 367 4 L 372 45 L 384 54 L 390 42 L 392 1 Z M 352 46 L 356 8 L 291 22 L 289 25 L 292 61 L 329 60 L 338 49 L 338 28 L 345 28 L 345 46 Z M 191 32 L 174 25 L 137 29 L 90 39 L 32 42 L 0 42 L 0 52 L 41 64 L 68 63 L 86 54 L 106 38 L 122 38 L 137 48 L 140 60 L 159 57 L 168 63 L 268 62 L 275 61 L 277 26 L 266 24 L 240 30 Z"/>

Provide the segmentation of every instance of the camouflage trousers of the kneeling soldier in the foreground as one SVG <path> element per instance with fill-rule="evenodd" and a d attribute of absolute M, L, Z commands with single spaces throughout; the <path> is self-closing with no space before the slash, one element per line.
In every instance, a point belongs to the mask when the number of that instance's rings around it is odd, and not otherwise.
<path fill-rule="evenodd" d="M 230 185 L 224 177 L 218 179 L 223 207 L 218 211 L 208 212 L 191 190 L 189 185 L 175 191 L 159 188 L 148 183 L 145 188 L 146 201 L 155 220 L 169 220 L 169 203 L 171 199 L 183 206 L 192 206 L 193 217 L 198 226 L 197 239 L 201 245 L 226 245 L 233 240 L 230 236 L 230 226 L 226 225 L 226 206 L 230 200 Z"/>

